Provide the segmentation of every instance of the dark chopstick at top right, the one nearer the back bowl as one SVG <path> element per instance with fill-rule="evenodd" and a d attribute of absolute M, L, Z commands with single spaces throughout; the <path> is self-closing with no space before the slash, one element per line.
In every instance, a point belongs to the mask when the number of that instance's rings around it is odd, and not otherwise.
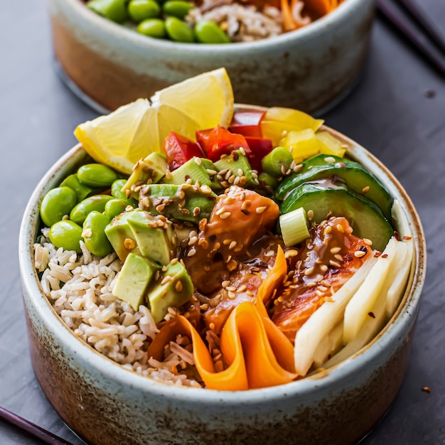
<path fill-rule="evenodd" d="M 417 27 L 413 26 L 400 10 L 390 0 L 377 0 L 377 8 L 397 28 L 402 35 L 412 43 L 434 67 L 445 75 L 445 57 L 434 48 L 424 34 L 419 33 Z"/>

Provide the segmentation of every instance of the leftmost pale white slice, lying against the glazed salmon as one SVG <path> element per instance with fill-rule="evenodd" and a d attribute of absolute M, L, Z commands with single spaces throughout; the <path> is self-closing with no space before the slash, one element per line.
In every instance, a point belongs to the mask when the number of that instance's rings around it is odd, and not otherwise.
<path fill-rule="evenodd" d="M 294 360 L 295 369 L 299 375 L 306 375 L 306 372 L 311 368 L 313 354 L 318 345 L 343 320 L 348 301 L 365 281 L 376 262 L 375 257 L 369 257 L 362 267 L 333 294 L 333 301 L 323 303 L 297 331 L 294 343 Z"/>

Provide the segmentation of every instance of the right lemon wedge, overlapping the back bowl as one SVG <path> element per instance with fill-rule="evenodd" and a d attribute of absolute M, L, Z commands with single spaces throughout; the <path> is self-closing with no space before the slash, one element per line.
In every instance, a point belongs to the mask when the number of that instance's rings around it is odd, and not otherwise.
<path fill-rule="evenodd" d="M 227 128 L 233 115 L 233 90 L 225 68 L 209 71 L 166 87 L 151 97 L 154 107 L 169 105 L 209 129 Z"/>

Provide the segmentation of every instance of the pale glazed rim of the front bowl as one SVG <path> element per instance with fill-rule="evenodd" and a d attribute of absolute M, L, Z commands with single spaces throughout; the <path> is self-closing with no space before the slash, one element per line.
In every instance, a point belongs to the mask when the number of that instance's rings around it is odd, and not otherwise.
<path fill-rule="evenodd" d="M 237 109 L 264 109 L 263 107 L 256 107 L 252 105 L 236 104 Z M 62 318 L 53 309 L 48 298 L 43 294 L 41 284 L 33 264 L 32 246 L 37 235 L 38 230 L 38 208 L 41 202 L 41 197 L 46 189 L 53 187 L 49 186 L 51 181 L 56 181 L 58 176 L 63 176 L 63 168 L 70 161 L 73 162 L 73 156 L 76 161 L 80 161 L 82 157 L 86 156 L 86 152 L 82 149 L 81 144 L 75 145 L 70 151 L 65 153 L 53 166 L 45 173 L 41 181 L 33 191 L 31 198 L 28 200 L 26 210 L 23 213 L 19 233 L 19 264 L 21 272 L 21 282 L 23 286 L 23 293 L 28 294 L 33 304 L 33 309 L 38 313 L 41 322 L 45 324 L 45 328 L 57 337 L 61 343 L 64 343 L 71 351 L 75 351 L 78 358 L 88 363 L 96 370 L 100 370 L 102 374 L 106 374 L 111 378 L 119 380 L 122 385 L 129 385 L 141 391 L 149 391 L 156 395 L 163 395 L 175 400 L 187 400 L 188 402 L 202 402 L 202 401 L 218 401 L 223 403 L 239 403 L 240 395 L 242 395 L 243 404 L 257 404 L 264 400 L 277 400 L 282 397 L 292 397 L 299 395 L 301 397 L 311 397 L 316 391 L 323 387 L 329 387 L 331 383 L 348 375 L 357 368 L 362 368 L 378 359 L 381 350 L 388 348 L 392 342 L 400 338 L 404 333 L 404 328 L 409 323 L 414 323 L 417 311 L 419 309 L 419 300 L 422 294 L 422 287 L 424 284 L 426 273 L 426 244 L 422 223 L 419 215 L 414 208 L 412 201 L 402 188 L 395 176 L 385 167 L 375 156 L 370 154 L 363 146 L 360 146 L 352 139 L 336 132 L 330 127 L 324 127 L 329 132 L 339 137 L 342 141 L 348 144 L 348 155 L 353 159 L 361 156 L 360 163 L 365 159 L 368 163 L 367 168 L 372 165 L 372 173 L 375 173 L 380 179 L 385 178 L 390 180 L 390 193 L 394 198 L 400 199 L 402 209 L 407 213 L 409 226 L 412 229 L 414 241 L 414 259 L 412 263 L 412 271 L 409 275 L 409 282 L 407 289 L 405 289 L 402 301 L 398 306 L 397 311 L 393 314 L 390 321 L 382 328 L 382 331 L 375 336 L 375 338 L 361 348 L 357 353 L 343 360 L 341 363 L 334 365 L 328 370 L 323 370 L 315 375 L 309 375 L 301 380 L 289 382 L 286 385 L 278 385 L 274 387 L 267 387 L 257 390 L 245 391 L 220 391 L 209 390 L 205 388 L 181 387 L 178 391 L 175 385 L 168 384 L 155 380 L 151 377 L 139 375 L 132 370 L 124 368 L 119 363 L 105 357 L 97 350 L 88 345 L 85 341 L 77 338 L 73 331 L 63 322 Z M 74 166 L 74 163 L 73 163 Z M 408 211 L 408 212 L 407 212 Z M 79 341 L 81 343 L 79 343 Z M 83 344 L 86 347 L 79 348 Z M 106 365 L 106 363 L 108 363 Z"/>

